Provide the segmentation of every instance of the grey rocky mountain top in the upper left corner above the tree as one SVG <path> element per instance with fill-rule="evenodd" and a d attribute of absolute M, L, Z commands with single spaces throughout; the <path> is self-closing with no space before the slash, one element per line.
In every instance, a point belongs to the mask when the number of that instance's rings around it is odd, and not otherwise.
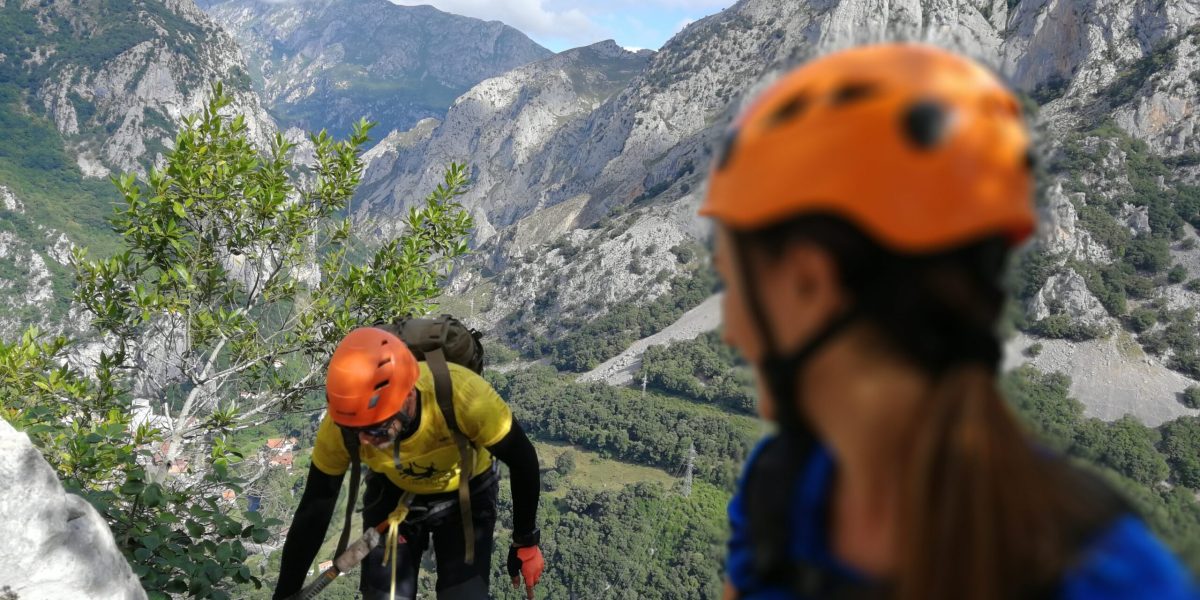
<path fill-rule="evenodd" d="M 191 0 L 6 2 L 0 72 L 48 116 L 83 173 L 142 170 L 217 80 L 259 140 L 274 130 L 238 44 Z"/>

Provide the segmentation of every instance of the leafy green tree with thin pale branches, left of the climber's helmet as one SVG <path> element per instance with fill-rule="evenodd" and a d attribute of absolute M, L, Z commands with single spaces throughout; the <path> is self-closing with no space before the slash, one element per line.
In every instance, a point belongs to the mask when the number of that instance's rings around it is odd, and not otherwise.
<path fill-rule="evenodd" d="M 121 252 L 76 254 L 76 299 L 96 328 L 134 354 L 131 364 L 160 365 L 136 391 L 154 406 L 167 401 L 167 461 L 186 438 L 296 408 L 350 329 L 426 312 L 473 227 L 455 202 L 466 168 L 451 164 L 409 210 L 404 235 L 362 248 L 344 212 L 370 125 L 360 121 L 344 142 L 312 136 L 316 166 L 296 174 L 293 145 L 277 134 L 260 156 L 244 119 L 220 115 L 228 103 L 217 86 L 203 114 L 185 120 L 148 190 L 120 178 L 125 205 L 113 224 Z"/>

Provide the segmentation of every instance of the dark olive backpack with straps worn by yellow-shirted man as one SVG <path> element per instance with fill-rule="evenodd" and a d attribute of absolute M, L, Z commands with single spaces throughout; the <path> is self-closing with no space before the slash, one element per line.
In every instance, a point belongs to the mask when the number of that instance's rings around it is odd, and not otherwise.
<path fill-rule="evenodd" d="M 474 564 L 475 527 L 470 517 L 470 472 L 475 464 L 475 448 L 458 428 L 458 419 L 455 416 L 454 409 L 454 382 L 450 379 L 450 367 L 446 364 L 462 365 L 482 374 L 484 346 L 480 343 L 482 334 L 468 328 L 450 314 L 424 318 L 408 317 L 395 323 L 373 326 L 400 337 L 416 356 L 416 360 L 425 361 L 433 373 L 433 390 L 438 409 L 442 410 L 446 427 L 450 428 L 450 434 L 458 448 L 458 510 L 462 514 L 466 563 Z M 341 556 L 349 542 L 350 516 L 354 514 L 355 504 L 358 504 L 359 478 L 362 470 L 362 462 L 359 458 L 359 437 L 343 431 L 342 442 L 346 444 L 346 451 L 349 452 L 352 462 L 350 498 L 346 505 L 346 523 L 342 526 L 342 536 L 334 556 Z"/>

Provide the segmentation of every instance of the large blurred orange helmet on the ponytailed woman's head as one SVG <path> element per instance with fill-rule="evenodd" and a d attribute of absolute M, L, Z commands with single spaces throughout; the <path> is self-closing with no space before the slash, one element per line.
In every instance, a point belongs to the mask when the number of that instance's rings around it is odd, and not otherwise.
<path fill-rule="evenodd" d="M 809 212 L 900 252 L 1033 230 L 1030 139 L 988 70 L 929 46 L 815 60 L 737 120 L 701 215 L 752 230 Z"/>

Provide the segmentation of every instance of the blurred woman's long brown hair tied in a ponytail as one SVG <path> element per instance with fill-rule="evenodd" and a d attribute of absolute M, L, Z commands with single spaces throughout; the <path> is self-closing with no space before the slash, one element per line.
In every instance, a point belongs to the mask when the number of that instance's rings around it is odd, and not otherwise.
<path fill-rule="evenodd" d="M 1066 463 L 1037 450 L 997 390 L 1006 242 L 898 254 L 840 218 L 804 216 L 756 233 L 752 245 L 779 257 L 802 240 L 830 252 L 856 313 L 934 382 L 911 431 L 893 595 L 1052 593 L 1078 532 L 1105 506 L 1079 493 L 1081 479 Z"/>

